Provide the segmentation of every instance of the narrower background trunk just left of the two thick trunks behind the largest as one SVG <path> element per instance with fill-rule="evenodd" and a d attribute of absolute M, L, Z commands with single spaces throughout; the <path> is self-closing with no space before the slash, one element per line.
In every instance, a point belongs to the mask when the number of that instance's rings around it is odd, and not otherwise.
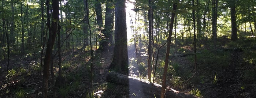
<path fill-rule="evenodd" d="M 83 26 L 83 31 L 84 31 L 84 43 L 83 43 L 83 48 L 84 49 L 86 46 L 89 45 L 88 41 L 88 23 L 89 23 L 89 8 L 88 8 L 88 0 L 84 0 L 84 26 Z"/>

